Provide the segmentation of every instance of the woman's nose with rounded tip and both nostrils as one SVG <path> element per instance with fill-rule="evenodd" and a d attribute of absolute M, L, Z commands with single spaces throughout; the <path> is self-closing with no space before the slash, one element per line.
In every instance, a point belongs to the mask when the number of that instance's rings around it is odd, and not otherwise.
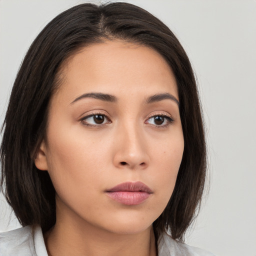
<path fill-rule="evenodd" d="M 118 128 L 114 141 L 113 163 L 118 168 L 145 169 L 149 164 L 148 146 L 142 127 Z"/>

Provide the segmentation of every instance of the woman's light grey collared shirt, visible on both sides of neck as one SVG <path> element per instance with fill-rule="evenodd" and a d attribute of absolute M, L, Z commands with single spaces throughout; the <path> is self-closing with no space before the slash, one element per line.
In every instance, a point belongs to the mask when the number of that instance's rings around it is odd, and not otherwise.
<path fill-rule="evenodd" d="M 162 234 L 157 242 L 158 256 L 214 256 L 205 250 L 189 246 Z M 25 226 L 0 233 L 1 256 L 48 256 L 42 230 Z"/>

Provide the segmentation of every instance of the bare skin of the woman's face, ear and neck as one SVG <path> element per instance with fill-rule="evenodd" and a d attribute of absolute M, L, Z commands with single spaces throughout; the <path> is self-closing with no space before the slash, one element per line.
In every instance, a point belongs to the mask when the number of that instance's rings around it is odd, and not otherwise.
<path fill-rule="evenodd" d="M 116 40 L 82 48 L 61 75 L 35 159 L 56 190 L 56 224 L 44 234 L 48 252 L 155 255 L 152 222 L 171 196 L 184 142 L 178 104 L 169 98 L 145 101 L 158 93 L 178 100 L 171 68 L 155 50 Z M 75 100 L 92 92 L 117 101 Z M 103 122 L 86 117 L 92 114 Z M 152 193 L 137 205 L 107 195 L 126 181 L 141 181 Z"/>

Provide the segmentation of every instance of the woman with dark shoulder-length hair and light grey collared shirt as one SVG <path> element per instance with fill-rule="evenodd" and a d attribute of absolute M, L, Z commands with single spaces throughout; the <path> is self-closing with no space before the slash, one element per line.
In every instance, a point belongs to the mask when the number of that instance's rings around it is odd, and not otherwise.
<path fill-rule="evenodd" d="M 212 255 L 182 243 L 200 203 L 205 140 L 190 62 L 128 3 L 80 4 L 30 46 L 1 145 L 22 228 L 1 255 Z"/>

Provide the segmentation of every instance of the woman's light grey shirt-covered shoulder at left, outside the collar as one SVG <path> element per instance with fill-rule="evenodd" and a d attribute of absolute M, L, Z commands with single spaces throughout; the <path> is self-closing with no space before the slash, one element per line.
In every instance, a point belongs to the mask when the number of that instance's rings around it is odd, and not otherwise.
<path fill-rule="evenodd" d="M 32 227 L 25 226 L 0 233 L 0 255 L 36 255 Z"/>

